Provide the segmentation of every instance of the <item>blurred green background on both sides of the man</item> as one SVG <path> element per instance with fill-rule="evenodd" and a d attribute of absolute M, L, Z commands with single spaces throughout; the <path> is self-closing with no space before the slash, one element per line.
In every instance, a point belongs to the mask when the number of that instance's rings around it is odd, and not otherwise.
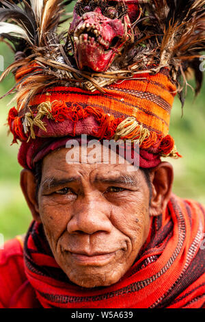
<path fill-rule="evenodd" d="M 0 55 L 4 58 L 4 67 L 13 61 L 13 54 L 5 44 L 0 45 Z M 0 72 L 1 73 L 1 72 Z M 194 83 L 190 81 L 194 86 Z M 14 77 L 9 75 L 0 84 L 0 95 L 14 86 Z M 10 145 L 12 135 L 8 136 L 8 127 L 4 126 L 12 97 L 0 101 L 0 234 L 4 240 L 23 234 L 31 221 L 31 214 L 20 190 L 20 166 L 17 163 L 19 145 Z M 172 110 L 169 133 L 174 137 L 178 151 L 183 158 L 169 159 L 174 166 L 174 193 L 180 197 L 195 199 L 205 204 L 205 84 L 200 95 L 194 99 L 188 88 L 184 104 L 183 117 L 181 104 L 176 98 Z"/>

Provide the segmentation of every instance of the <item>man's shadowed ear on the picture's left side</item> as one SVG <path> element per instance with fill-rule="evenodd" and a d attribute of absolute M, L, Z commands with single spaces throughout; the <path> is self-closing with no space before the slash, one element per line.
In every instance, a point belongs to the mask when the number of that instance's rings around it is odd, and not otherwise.
<path fill-rule="evenodd" d="M 35 221 L 40 222 L 38 201 L 36 199 L 36 179 L 30 170 L 23 169 L 20 173 L 20 186 Z"/>

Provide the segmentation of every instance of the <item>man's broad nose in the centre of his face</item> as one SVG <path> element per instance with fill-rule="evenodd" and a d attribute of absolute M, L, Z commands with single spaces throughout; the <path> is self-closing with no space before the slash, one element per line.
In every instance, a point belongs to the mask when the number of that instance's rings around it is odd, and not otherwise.
<path fill-rule="evenodd" d="M 76 203 L 67 225 L 70 234 L 95 234 L 111 232 L 109 206 L 99 198 L 85 197 Z"/>

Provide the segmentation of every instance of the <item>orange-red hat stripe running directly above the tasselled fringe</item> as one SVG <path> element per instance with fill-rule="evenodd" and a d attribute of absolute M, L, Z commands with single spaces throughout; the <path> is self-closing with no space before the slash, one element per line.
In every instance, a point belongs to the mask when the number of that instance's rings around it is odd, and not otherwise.
<path fill-rule="evenodd" d="M 36 106 L 43 101 L 54 101 L 55 99 L 63 102 L 66 101 L 66 103 L 83 103 L 87 106 L 96 106 L 97 103 L 100 108 L 106 109 L 115 117 L 117 113 L 120 112 L 122 115 L 134 116 L 139 123 L 146 127 L 151 127 L 155 132 L 167 135 L 169 131 L 169 113 L 153 103 L 155 107 L 158 108 L 155 113 L 154 109 L 150 109 L 150 101 L 143 100 L 144 103 L 142 103 L 141 98 L 139 97 L 136 97 L 136 101 L 133 101 L 133 97 L 130 97 L 129 101 L 123 101 L 123 94 L 118 98 L 112 95 L 102 95 L 101 93 L 83 91 L 79 92 L 78 90 L 71 89 L 69 91 L 49 90 L 48 92 L 51 93 L 51 96 L 46 94 L 38 95 L 31 101 L 30 106 Z M 118 105 L 116 105 L 116 103 L 118 103 Z"/>

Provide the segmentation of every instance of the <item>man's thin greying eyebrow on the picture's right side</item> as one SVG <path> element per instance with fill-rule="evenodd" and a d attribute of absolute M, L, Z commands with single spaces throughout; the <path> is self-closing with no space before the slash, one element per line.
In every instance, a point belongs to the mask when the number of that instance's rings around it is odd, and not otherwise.
<path fill-rule="evenodd" d="M 95 183 L 104 182 L 107 184 L 124 184 L 126 186 L 136 186 L 138 180 L 135 175 L 118 175 L 115 177 L 100 177 L 96 176 Z"/>

